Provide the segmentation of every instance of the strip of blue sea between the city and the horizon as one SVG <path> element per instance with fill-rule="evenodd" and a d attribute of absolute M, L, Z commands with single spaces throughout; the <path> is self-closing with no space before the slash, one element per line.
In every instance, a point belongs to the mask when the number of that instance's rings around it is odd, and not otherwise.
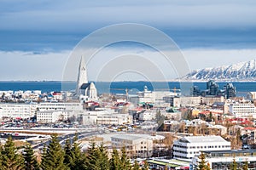
<path fill-rule="evenodd" d="M 218 82 L 219 89 L 223 89 L 227 82 Z M 236 87 L 237 96 L 246 96 L 248 92 L 256 91 L 256 82 L 232 82 Z M 201 90 L 207 88 L 207 82 L 95 82 L 98 94 L 137 94 L 147 86 L 150 91 L 177 91 L 180 88 L 197 86 Z M 184 86 L 185 84 L 185 86 Z M 41 90 L 42 93 L 53 91 L 74 91 L 76 82 L 44 81 L 44 82 L 0 82 L 0 91 Z M 187 89 L 187 90 L 188 90 Z"/>

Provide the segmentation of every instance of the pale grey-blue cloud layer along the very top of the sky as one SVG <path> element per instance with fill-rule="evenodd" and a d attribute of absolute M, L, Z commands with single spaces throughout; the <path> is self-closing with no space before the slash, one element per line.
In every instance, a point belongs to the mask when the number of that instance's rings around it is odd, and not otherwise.
<path fill-rule="evenodd" d="M 164 27 L 256 26 L 254 1 L 4 1 L 1 29 L 84 31 L 120 22 Z M 11 6 L 12 8 L 8 8 Z"/>

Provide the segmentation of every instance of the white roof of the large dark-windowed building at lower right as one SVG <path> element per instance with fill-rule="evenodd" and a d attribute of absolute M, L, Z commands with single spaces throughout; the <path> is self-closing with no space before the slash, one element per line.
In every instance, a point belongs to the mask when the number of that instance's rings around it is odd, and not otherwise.
<path fill-rule="evenodd" d="M 183 139 L 189 143 L 228 142 L 220 136 L 186 136 Z"/>

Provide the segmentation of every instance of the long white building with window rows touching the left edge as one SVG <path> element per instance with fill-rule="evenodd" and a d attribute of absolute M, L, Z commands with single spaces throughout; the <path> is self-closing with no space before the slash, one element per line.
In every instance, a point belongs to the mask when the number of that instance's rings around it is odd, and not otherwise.
<path fill-rule="evenodd" d="M 35 115 L 37 105 L 34 104 L 0 104 L 0 118 L 29 118 Z"/>

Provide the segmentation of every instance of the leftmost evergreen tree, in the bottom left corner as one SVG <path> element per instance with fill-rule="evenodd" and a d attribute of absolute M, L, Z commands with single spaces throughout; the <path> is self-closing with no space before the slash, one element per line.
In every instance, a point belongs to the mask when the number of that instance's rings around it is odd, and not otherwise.
<path fill-rule="evenodd" d="M 2 150 L 2 169 L 19 170 L 24 169 L 24 159 L 17 153 L 15 143 L 11 136 L 7 139 Z"/>

